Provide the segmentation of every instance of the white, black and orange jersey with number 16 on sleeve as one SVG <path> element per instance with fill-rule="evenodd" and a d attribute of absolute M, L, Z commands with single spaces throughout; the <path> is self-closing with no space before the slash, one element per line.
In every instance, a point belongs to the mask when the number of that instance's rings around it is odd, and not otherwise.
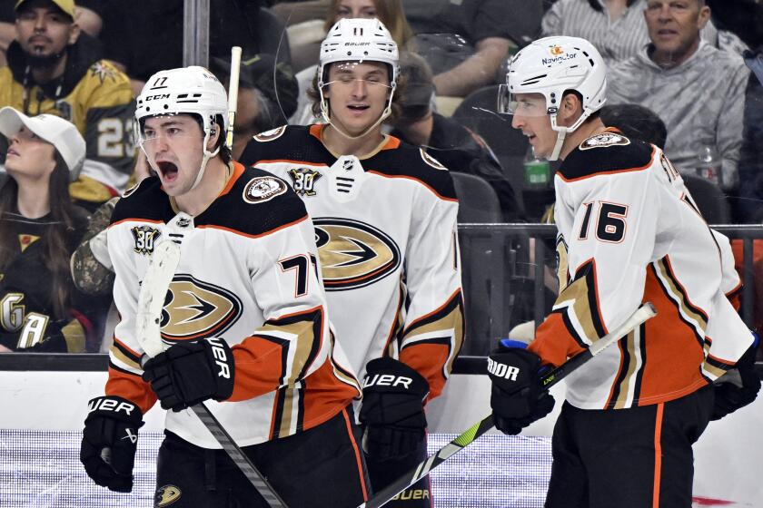
<path fill-rule="evenodd" d="M 752 344 L 726 295 L 739 285 L 728 239 L 709 230 L 662 151 L 603 132 L 570 153 L 554 183 L 560 295 L 530 350 L 558 366 L 642 302 L 658 311 L 568 378 L 570 404 L 657 404 L 728 370 Z"/>

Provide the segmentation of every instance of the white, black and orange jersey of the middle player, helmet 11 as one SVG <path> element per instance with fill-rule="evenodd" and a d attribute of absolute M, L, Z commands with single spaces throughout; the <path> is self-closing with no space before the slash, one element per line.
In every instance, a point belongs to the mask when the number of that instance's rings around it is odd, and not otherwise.
<path fill-rule="evenodd" d="M 463 339 L 458 200 L 426 152 L 385 137 L 362 160 L 332 154 L 322 125 L 254 136 L 242 162 L 302 197 L 315 225 L 337 342 L 362 377 L 390 356 L 441 393 Z"/>

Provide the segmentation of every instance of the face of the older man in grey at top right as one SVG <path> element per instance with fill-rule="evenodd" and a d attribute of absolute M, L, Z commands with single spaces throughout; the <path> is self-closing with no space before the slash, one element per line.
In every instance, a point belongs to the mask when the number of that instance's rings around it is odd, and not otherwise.
<path fill-rule="evenodd" d="M 655 49 L 678 58 L 692 53 L 699 44 L 699 31 L 709 15 L 709 8 L 699 0 L 649 0 L 644 11 Z"/>

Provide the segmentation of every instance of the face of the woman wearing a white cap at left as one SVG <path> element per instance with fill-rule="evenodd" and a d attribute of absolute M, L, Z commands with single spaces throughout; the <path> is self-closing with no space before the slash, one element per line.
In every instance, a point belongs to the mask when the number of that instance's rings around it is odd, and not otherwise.
<path fill-rule="evenodd" d="M 26 127 L 8 139 L 5 170 L 16 180 L 25 176 L 31 179 L 47 178 L 55 169 L 55 149 Z"/>

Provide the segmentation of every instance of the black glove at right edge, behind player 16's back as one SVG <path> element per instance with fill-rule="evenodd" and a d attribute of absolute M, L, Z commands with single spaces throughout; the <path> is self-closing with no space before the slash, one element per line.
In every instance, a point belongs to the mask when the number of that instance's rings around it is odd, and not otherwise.
<path fill-rule="evenodd" d="M 719 420 L 740 407 L 752 403 L 760 391 L 760 378 L 755 371 L 755 354 L 758 336 L 745 354 L 738 359 L 735 368 L 729 370 L 713 384 L 715 404 L 710 420 Z"/>

